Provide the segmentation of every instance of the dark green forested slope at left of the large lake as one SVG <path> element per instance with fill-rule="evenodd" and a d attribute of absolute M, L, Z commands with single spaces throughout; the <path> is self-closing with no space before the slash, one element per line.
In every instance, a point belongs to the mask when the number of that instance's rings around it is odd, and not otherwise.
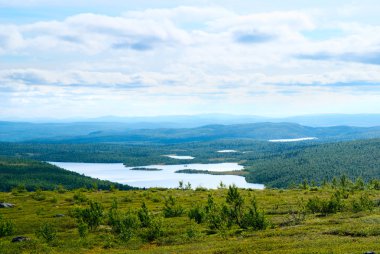
<path fill-rule="evenodd" d="M 65 189 L 97 186 L 107 190 L 111 185 L 118 189 L 131 189 L 127 185 L 86 177 L 49 163 L 6 157 L 0 157 L 0 183 L 0 191 L 10 191 L 17 186 L 24 186 L 28 190 L 53 190 L 59 185 Z"/>

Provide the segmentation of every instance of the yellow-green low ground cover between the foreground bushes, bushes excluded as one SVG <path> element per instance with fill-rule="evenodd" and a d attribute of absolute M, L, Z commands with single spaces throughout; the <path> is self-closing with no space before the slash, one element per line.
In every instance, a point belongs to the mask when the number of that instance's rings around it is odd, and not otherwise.
<path fill-rule="evenodd" d="M 372 200 L 380 199 L 380 191 L 367 191 Z M 207 195 L 212 193 L 217 201 L 225 199 L 226 190 L 181 191 L 146 190 L 87 192 L 85 195 L 101 202 L 105 208 L 111 206 L 116 198 L 119 209 L 127 211 L 139 208 L 141 202 L 147 202 L 149 209 L 160 214 L 164 206 L 164 197 L 175 196 L 186 208 L 195 203 L 204 204 Z M 164 219 L 165 234 L 158 240 L 147 243 L 133 238 L 121 243 L 113 238 L 107 226 L 101 226 L 90 233 L 87 240 L 81 240 L 76 230 L 76 222 L 69 216 L 54 218 L 55 214 L 68 214 L 68 210 L 78 206 L 73 204 L 73 192 L 58 194 L 44 192 L 46 200 L 36 201 L 31 193 L 15 196 L 0 193 L 0 201 L 16 204 L 12 209 L 1 209 L 4 218 L 11 219 L 16 225 L 16 235 L 24 235 L 32 240 L 25 243 L 10 243 L 12 236 L 0 238 L 0 252 L 7 253 L 364 253 L 380 251 L 380 207 L 372 212 L 341 212 L 327 217 L 309 214 L 306 221 L 297 226 L 280 226 L 287 220 L 292 210 L 308 198 L 329 197 L 332 190 L 264 190 L 241 191 L 245 200 L 255 195 L 261 208 L 268 214 L 274 228 L 265 231 L 241 231 L 232 229 L 225 233 L 208 234 L 205 225 L 194 225 L 186 215 Z M 351 193 L 353 198 L 363 192 Z M 50 222 L 58 229 L 58 240 L 47 245 L 36 238 L 34 232 L 42 223 Z M 196 237 L 187 237 L 187 230 L 193 225 Z M 361 235 L 361 236 L 355 236 Z M 110 248 L 105 246 L 111 243 Z"/>

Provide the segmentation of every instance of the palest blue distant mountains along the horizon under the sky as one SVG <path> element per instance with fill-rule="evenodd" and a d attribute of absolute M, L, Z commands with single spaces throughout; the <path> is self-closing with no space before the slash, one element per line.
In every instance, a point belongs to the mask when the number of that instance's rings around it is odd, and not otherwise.
<path fill-rule="evenodd" d="M 303 115 L 282 118 L 271 118 L 253 115 L 177 115 L 177 116 L 147 116 L 147 117 L 120 117 L 103 116 L 97 118 L 69 118 L 69 119 L 9 119 L 10 122 L 32 123 L 122 123 L 129 129 L 157 129 L 157 128 L 195 128 L 212 124 L 247 124 L 259 122 L 289 122 L 312 127 L 330 126 L 380 126 L 380 114 L 324 114 Z"/>

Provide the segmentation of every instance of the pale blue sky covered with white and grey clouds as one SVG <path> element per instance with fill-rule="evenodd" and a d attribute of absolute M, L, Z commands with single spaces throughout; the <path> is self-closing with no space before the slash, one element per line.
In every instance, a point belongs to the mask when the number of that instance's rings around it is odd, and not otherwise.
<path fill-rule="evenodd" d="M 380 113 L 380 3 L 0 0 L 0 119 Z"/>

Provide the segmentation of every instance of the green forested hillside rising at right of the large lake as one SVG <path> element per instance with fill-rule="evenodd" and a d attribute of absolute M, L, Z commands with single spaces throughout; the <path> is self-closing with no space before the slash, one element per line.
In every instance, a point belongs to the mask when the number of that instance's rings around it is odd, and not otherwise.
<path fill-rule="evenodd" d="M 303 180 L 321 183 L 346 175 L 380 179 L 380 139 L 320 144 L 249 162 L 250 182 L 288 187 Z"/>

